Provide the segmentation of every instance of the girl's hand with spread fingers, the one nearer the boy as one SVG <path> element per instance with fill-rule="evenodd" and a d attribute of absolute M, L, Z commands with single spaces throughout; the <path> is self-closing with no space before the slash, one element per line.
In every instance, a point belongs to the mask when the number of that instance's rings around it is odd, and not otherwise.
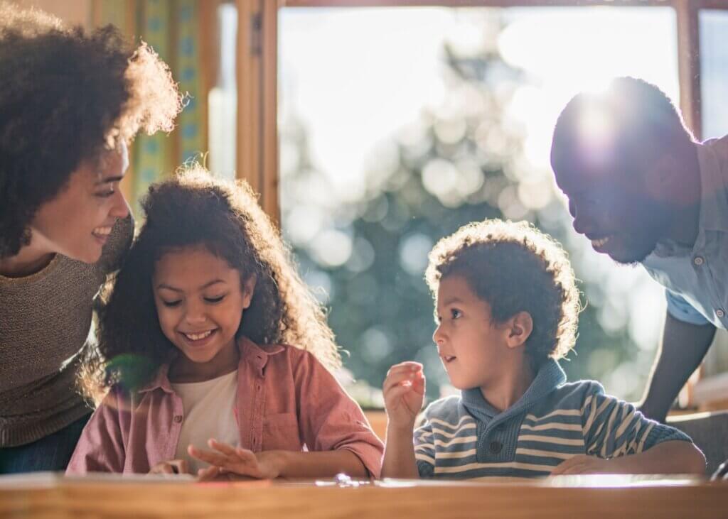
<path fill-rule="evenodd" d="M 218 479 L 226 472 L 248 476 L 256 479 L 273 479 L 280 475 L 280 468 L 275 462 L 273 453 L 254 454 L 248 449 L 233 447 L 227 443 L 219 443 L 213 439 L 207 442 L 212 451 L 189 446 L 189 455 L 210 464 L 210 467 L 197 472 L 201 481 Z"/>

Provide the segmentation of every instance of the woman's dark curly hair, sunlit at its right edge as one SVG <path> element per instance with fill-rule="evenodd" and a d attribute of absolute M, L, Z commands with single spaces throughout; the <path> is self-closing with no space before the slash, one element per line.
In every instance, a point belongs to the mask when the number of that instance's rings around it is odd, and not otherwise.
<path fill-rule="evenodd" d="M 0 258 L 29 243 L 39 207 L 82 162 L 141 128 L 171 131 L 180 110 L 169 68 L 146 44 L 0 2 Z"/>

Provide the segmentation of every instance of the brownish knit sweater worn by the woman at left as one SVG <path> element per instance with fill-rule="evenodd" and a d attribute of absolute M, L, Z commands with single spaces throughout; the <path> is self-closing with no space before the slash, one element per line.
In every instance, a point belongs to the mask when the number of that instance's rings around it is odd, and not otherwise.
<path fill-rule="evenodd" d="M 76 390 L 78 353 L 94 299 L 132 234 L 127 217 L 94 264 L 56 254 L 38 273 L 0 275 L 0 448 L 31 443 L 91 412 Z"/>

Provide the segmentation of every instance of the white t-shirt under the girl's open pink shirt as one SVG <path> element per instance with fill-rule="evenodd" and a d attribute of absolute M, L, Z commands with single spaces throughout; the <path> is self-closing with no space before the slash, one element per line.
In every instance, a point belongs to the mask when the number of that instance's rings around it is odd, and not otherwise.
<path fill-rule="evenodd" d="M 172 384 L 182 398 L 184 422 L 177 444 L 176 459 L 186 459 L 192 474 L 209 467 L 205 462 L 187 454 L 190 444 L 210 450 L 207 440 L 215 438 L 222 443 L 240 446 L 240 433 L 235 407 L 237 404 L 237 370 L 205 382 Z"/>

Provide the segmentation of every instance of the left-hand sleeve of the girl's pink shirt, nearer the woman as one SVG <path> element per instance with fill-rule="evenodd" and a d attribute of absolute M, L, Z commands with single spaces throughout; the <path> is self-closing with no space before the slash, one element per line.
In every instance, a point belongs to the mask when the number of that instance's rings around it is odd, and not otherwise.
<path fill-rule="evenodd" d="M 66 468 L 67 475 L 124 472 L 125 449 L 119 420 L 120 391 L 112 389 L 84 427 Z"/>

